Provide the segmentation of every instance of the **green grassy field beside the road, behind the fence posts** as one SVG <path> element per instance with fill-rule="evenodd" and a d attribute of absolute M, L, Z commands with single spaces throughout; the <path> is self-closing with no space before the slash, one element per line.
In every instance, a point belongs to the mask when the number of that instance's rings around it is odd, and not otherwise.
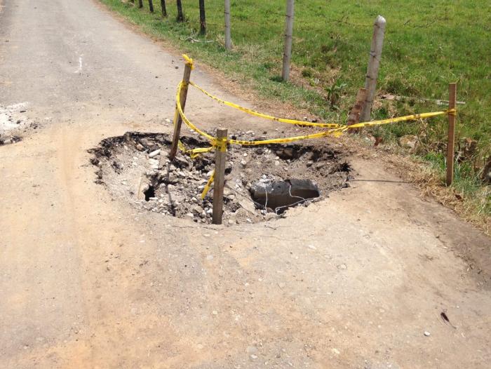
<path fill-rule="evenodd" d="M 167 1 L 169 16 L 150 15 L 148 3 L 137 9 L 120 0 L 100 0 L 142 26 L 144 32 L 170 40 L 201 62 L 222 70 L 264 98 L 307 108 L 325 121 L 344 123 L 358 88 L 365 81 L 372 24 L 377 15 L 387 21 L 379 75 L 379 95 L 403 100 L 379 100 L 373 118 L 388 118 L 446 107 L 420 99 L 448 100 L 448 83 L 458 82 L 458 145 L 476 140 L 456 166 L 455 189 L 476 197 L 476 210 L 491 214 L 489 186 L 478 181 L 479 168 L 491 154 L 491 3 L 488 0 L 295 1 L 292 81 L 280 79 L 283 54 L 284 0 L 231 0 L 234 49 L 224 50 L 223 1 L 206 0 L 207 34 L 199 36 L 199 1 L 183 0 L 186 16 L 177 23 L 175 1 Z M 211 42 L 194 42 L 211 41 Z M 402 135 L 422 139 L 419 156 L 443 175 L 446 120 L 432 119 L 376 129 L 383 142 Z M 443 176 L 442 176 L 443 178 Z"/>

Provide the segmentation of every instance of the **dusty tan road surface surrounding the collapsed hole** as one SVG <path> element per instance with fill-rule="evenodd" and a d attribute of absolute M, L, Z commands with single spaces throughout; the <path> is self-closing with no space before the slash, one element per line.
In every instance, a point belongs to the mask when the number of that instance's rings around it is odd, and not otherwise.
<path fill-rule="evenodd" d="M 42 122 L 0 147 L 1 368 L 489 368 L 490 265 L 455 253 L 490 240 L 377 161 L 275 222 L 137 213 L 86 150 L 169 132 L 179 58 L 90 0 L 25 0 L 4 1 L 0 60 L 0 104 Z"/>

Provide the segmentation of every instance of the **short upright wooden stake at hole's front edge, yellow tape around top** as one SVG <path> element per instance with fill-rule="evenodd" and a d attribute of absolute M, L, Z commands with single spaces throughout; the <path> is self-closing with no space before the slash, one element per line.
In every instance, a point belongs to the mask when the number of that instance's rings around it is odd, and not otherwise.
<path fill-rule="evenodd" d="M 213 224 L 222 224 L 227 134 L 228 130 L 226 128 L 217 129 L 218 146 L 215 150 L 215 182 L 213 182 Z"/>

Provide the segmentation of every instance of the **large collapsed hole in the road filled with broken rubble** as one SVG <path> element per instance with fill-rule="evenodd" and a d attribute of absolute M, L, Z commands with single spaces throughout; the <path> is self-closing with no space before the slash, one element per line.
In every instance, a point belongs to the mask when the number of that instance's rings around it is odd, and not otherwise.
<path fill-rule="evenodd" d="M 187 148 L 208 147 L 194 137 L 182 137 L 182 142 Z M 211 223 L 213 187 L 203 200 L 201 192 L 213 171 L 214 154 L 191 159 L 179 153 L 170 162 L 169 151 L 168 135 L 136 132 L 109 137 L 89 150 L 98 168 L 96 182 L 112 196 L 137 208 Z M 349 168 L 342 154 L 327 145 L 229 146 L 223 223 L 285 217 L 291 206 L 308 206 L 348 187 Z"/>

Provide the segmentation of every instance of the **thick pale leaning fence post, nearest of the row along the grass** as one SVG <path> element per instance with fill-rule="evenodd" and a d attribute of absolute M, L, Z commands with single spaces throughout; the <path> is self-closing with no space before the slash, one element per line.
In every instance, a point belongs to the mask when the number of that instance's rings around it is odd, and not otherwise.
<path fill-rule="evenodd" d="M 372 104 L 375 98 L 375 88 L 377 87 L 377 78 L 379 76 L 380 58 L 382 58 L 382 46 L 384 45 L 386 21 L 382 15 L 379 15 L 373 25 L 372 46 L 370 48 L 370 58 L 368 60 L 367 76 L 365 78 L 365 89 L 367 96 L 361 109 L 360 121 L 370 121 L 372 113 Z"/>

